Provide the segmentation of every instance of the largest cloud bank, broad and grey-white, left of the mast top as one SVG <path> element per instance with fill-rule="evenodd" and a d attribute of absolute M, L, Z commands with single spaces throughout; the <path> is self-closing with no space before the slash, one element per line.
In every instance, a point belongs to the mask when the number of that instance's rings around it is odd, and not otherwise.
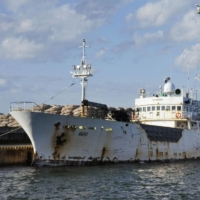
<path fill-rule="evenodd" d="M 0 57 L 36 62 L 62 58 L 67 47 L 80 35 L 98 28 L 104 22 L 101 18 L 87 19 L 67 4 L 39 10 L 37 14 L 16 13 L 13 17 L 0 17 Z"/>

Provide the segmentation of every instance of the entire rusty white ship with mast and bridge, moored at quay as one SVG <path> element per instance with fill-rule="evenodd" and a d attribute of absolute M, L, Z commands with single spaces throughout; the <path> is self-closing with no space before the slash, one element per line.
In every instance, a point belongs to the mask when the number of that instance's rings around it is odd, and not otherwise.
<path fill-rule="evenodd" d="M 120 162 L 168 161 L 200 156 L 200 102 L 170 78 L 164 89 L 147 96 L 140 89 L 134 109 L 112 109 L 85 99 L 85 86 L 92 76 L 83 56 L 73 66 L 73 78 L 81 78 L 80 107 L 52 113 L 45 105 L 12 102 L 10 114 L 28 134 L 34 156 L 32 165 L 97 165 Z M 37 109 L 41 107 L 41 109 Z"/>

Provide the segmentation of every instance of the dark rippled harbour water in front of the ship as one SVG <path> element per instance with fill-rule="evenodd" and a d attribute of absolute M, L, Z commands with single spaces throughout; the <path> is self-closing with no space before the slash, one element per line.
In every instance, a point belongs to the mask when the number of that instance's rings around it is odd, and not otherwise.
<path fill-rule="evenodd" d="M 1 167 L 0 199 L 200 199 L 200 161 Z"/>

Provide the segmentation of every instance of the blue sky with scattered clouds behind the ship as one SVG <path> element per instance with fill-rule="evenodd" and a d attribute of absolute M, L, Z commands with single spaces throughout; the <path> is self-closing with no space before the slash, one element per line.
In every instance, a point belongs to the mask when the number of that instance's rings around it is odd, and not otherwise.
<path fill-rule="evenodd" d="M 134 107 L 164 78 L 200 97 L 200 0 L 0 0 L 0 113 L 11 102 L 79 105 L 83 39 L 92 66 L 86 99 Z M 72 85 L 72 83 L 74 83 Z"/>

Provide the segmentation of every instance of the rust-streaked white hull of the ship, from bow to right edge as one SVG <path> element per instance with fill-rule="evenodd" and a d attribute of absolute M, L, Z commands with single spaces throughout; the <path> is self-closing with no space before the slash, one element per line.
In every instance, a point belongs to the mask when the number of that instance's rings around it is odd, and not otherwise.
<path fill-rule="evenodd" d="M 152 136 L 152 132 L 147 130 L 149 127 L 133 122 L 28 111 L 12 111 L 11 115 L 28 134 L 34 149 L 34 164 L 38 166 L 95 165 L 200 156 L 199 129 L 179 129 L 177 133 L 170 133 L 171 130 L 159 132 L 158 129 Z M 169 136 L 163 138 L 166 135 Z"/>

